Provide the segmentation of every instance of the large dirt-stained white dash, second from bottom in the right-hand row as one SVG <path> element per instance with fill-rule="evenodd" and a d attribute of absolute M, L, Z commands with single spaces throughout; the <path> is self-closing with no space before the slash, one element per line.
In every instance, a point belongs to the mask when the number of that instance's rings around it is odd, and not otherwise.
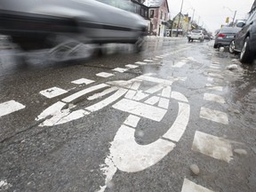
<path fill-rule="evenodd" d="M 229 163 L 233 159 L 232 146 L 230 143 L 229 140 L 196 131 L 192 150 Z"/>

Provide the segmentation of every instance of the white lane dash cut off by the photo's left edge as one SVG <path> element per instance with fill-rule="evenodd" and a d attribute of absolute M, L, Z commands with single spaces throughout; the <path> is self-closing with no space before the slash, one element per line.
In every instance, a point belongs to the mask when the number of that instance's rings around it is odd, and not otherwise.
<path fill-rule="evenodd" d="M 0 104 L 0 117 L 11 114 L 22 108 L 26 108 L 24 105 L 20 104 L 15 100 L 9 100 Z"/>

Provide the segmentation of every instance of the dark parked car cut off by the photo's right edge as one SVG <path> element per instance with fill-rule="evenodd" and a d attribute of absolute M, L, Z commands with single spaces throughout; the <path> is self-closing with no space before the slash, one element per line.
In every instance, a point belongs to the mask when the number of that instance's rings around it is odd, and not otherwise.
<path fill-rule="evenodd" d="M 229 44 L 229 52 L 239 52 L 241 62 L 251 63 L 256 55 L 256 10 L 251 13 L 248 20 L 237 23 L 236 27 L 242 29 Z"/>

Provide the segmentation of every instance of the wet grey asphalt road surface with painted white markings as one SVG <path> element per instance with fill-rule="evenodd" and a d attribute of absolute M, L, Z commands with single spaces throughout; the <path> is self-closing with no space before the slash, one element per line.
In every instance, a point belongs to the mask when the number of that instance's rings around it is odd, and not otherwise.
<path fill-rule="evenodd" d="M 61 63 L 1 50 L 0 191 L 255 191 L 255 65 L 213 42 L 160 40 Z M 10 100 L 21 107 L 3 115 Z"/>

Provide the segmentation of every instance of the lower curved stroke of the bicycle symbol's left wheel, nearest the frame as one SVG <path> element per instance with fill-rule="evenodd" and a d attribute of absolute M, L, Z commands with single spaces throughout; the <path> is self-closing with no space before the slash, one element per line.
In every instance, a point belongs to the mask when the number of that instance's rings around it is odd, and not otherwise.
<path fill-rule="evenodd" d="M 116 101 L 117 99 L 121 98 L 125 93 L 127 92 L 126 89 L 119 89 L 117 92 L 115 92 L 113 95 L 111 95 L 110 97 L 106 98 L 105 100 L 101 100 L 100 102 L 85 108 L 88 111 L 97 111 L 100 110 L 101 108 L 105 108 L 106 106 L 108 106 L 110 103 Z"/>

